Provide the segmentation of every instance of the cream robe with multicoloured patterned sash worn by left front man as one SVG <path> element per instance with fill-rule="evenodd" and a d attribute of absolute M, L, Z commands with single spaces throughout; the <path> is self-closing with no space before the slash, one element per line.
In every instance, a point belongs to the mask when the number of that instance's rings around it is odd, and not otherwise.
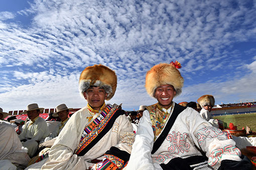
<path fill-rule="evenodd" d="M 135 134 L 125 115 L 110 105 L 103 105 L 101 110 L 107 107 L 111 111 L 105 117 L 89 105 L 75 112 L 51 147 L 49 158 L 43 160 L 44 165 L 38 162 L 27 169 L 42 166 L 41 169 L 84 170 L 101 165 L 121 169 L 129 160 Z"/>

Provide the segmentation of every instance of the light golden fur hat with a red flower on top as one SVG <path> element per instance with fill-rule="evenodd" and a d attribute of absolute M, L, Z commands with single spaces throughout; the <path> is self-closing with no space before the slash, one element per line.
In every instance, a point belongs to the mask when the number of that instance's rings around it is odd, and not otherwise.
<path fill-rule="evenodd" d="M 146 74 L 146 90 L 150 96 L 155 97 L 155 90 L 160 85 L 170 84 L 174 87 L 176 95 L 181 93 L 184 79 L 177 68 L 181 65 L 178 61 L 160 63 L 153 66 Z"/>

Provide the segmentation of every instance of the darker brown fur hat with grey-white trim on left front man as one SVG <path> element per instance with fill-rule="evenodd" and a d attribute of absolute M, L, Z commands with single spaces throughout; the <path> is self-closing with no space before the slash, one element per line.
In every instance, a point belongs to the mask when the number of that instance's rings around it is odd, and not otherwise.
<path fill-rule="evenodd" d="M 87 66 L 81 73 L 79 78 L 79 91 L 83 96 L 89 86 L 99 86 L 104 88 L 107 93 L 107 100 L 111 99 L 114 95 L 117 84 L 115 72 L 110 68 L 95 64 Z"/>

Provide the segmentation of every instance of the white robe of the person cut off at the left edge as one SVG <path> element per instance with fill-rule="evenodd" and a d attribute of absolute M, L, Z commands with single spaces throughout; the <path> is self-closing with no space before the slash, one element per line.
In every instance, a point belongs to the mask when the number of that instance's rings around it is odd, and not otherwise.
<path fill-rule="evenodd" d="M 13 126 L 0 120 L 0 169 L 25 168 L 29 160 L 27 149 L 22 147 Z"/>

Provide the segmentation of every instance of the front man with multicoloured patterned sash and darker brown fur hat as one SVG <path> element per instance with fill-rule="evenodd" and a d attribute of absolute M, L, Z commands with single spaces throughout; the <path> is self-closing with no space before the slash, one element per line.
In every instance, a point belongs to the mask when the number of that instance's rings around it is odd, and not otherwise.
<path fill-rule="evenodd" d="M 132 124 L 118 105 L 105 104 L 116 89 L 114 71 L 104 65 L 86 67 L 79 90 L 87 106 L 76 111 L 42 160 L 41 169 L 121 169 L 129 160 L 134 141 Z M 41 162 L 42 162 L 41 161 Z M 40 168 L 41 162 L 27 169 Z M 101 167 L 102 165 L 102 167 Z"/>

